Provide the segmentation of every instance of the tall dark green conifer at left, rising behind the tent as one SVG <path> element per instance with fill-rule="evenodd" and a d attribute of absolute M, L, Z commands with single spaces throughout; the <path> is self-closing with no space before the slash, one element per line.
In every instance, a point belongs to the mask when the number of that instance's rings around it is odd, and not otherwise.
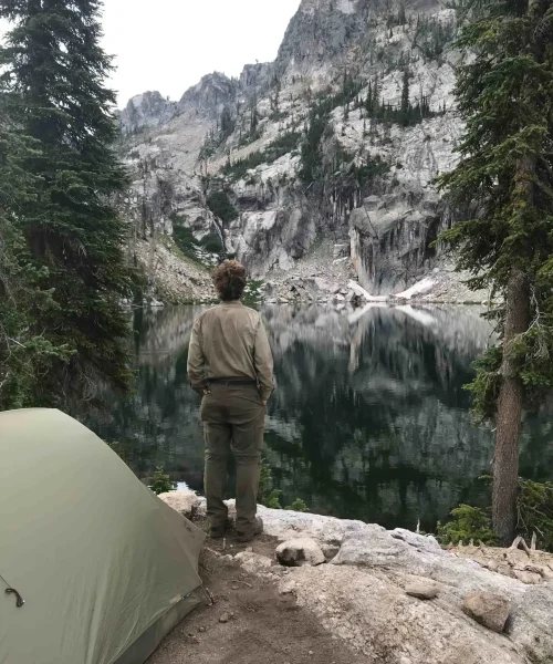
<path fill-rule="evenodd" d="M 35 146 L 21 159 L 32 196 L 12 227 L 35 290 L 51 293 L 28 334 L 69 353 L 51 357 L 40 394 L 24 405 L 90 400 L 101 381 L 125 387 L 129 378 L 121 299 L 132 272 L 113 203 L 126 174 L 111 148 L 115 96 L 104 87 L 111 60 L 98 45 L 100 9 L 97 0 L 0 0 L 0 18 L 13 25 L 0 48 L 3 98 L 17 138 Z"/>

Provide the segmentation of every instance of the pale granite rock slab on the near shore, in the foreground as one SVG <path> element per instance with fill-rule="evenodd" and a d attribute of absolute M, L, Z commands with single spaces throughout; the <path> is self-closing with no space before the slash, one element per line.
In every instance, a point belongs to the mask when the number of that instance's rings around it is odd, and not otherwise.
<path fill-rule="evenodd" d="M 205 515 L 192 491 L 161 499 L 191 518 Z M 510 578 L 403 529 L 264 507 L 259 513 L 274 556 L 249 549 L 221 553 L 221 563 L 232 559 L 276 583 L 369 662 L 553 662 L 551 578 Z M 544 560 L 553 572 L 553 557 Z"/>

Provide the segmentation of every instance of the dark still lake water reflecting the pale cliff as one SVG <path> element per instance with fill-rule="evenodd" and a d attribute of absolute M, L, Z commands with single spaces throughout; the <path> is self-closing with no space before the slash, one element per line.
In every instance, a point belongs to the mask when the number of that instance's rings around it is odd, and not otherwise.
<path fill-rule="evenodd" d="M 199 308 L 134 314 L 137 386 L 111 421 L 87 424 L 118 442 L 138 476 L 163 465 L 201 490 L 199 396 L 186 363 Z M 473 308 L 336 311 L 263 307 L 278 390 L 268 408 L 265 458 L 284 505 L 432 529 L 461 501 L 482 502 L 492 434 L 474 428 L 471 363 L 490 339 Z M 550 418 L 529 417 L 521 475 L 553 478 Z"/>

